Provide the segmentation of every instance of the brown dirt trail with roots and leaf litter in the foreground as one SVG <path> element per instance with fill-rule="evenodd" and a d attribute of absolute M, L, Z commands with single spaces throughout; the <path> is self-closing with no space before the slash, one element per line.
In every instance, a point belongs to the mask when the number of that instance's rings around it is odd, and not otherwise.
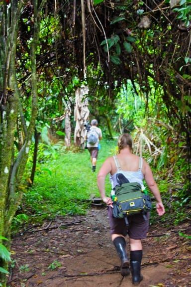
<path fill-rule="evenodd" d="M 51 227 L 83 220 L 67 228 Z M 122 278 L 119 259 L 110 241 L 106 209 L 93 208 L 89 216 L 57 218 L 49 229 L 29 230 L 13 239 L 15 267 L 10 287 L 132 287 L 131 276 Z M 188 230 L 189 224 L 177 229 Z M 156 236 L 165 234 L 164 236 Z M 177 230 L 150 228 L 143 241 L 144 255 L 139 287 L 190 287 L 191 246 Z M 54 264 L 53 264 L 54 262 Z M 56 269 L 56 265 L 60 265 Z M 19 268 L 22 271 L 19 271 Z M 27 268 L 29 270 L 27 270 Z"/>

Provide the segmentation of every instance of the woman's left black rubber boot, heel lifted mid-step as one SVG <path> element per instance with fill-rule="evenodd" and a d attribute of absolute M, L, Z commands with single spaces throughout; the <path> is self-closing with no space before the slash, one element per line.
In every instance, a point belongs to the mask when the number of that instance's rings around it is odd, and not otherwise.
<path fill-rule="evenodd" d="M 127 257 L 125 239 L 121 236 L 116 237 L 113 240 L 113 244 L 114 244 L 116 251 L 119 255 L 119 258 L 121 260 L 121 275 L 123 277 L 127 276 L 130 274 L 130 270 L 129 270 L 129 259 Z"/>

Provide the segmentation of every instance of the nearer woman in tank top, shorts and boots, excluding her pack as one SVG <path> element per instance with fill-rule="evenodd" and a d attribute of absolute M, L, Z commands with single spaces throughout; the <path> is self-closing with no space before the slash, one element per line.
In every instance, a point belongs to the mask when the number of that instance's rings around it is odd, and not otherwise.
<path fill-rule="evenodd" d="M 132 283 L 138 285 L 142 280 L 141 260 L 142 260 L 142 243 L 141 239 L 146 238 L 149 228 L 149 212 L 146 218 L 142 214 L 135 214 L 128 217 L 128 228 L 124 218 L 113 217 L 113 201 L 111 197 L 105 195 L 105 177 L 110 173 L 110 182 L 112 188 L 117 183 L 117 174 L 122 174 L 127 182 L 138 182 L 144 189 L 143 179 L 155 196 L 156 209 L 159 216 L 165 213 L 161 195 L 149 164 L 141 157 L 133 154 L 133 142 L 129 134 L 123 134 L 118 140 L 118 154 L 108 157 L 101 166 L 97 175 L 97 185 L 103 202 L 108 206 L 108 218 L 110 224 L 111 240 L 121 260 L 121 275 L 127 276 L 132 274 Z M 130 262 L 126 251 L 125 236 L 128 234 L 130 243 Z M 130 265 L 130 269 L 129 269 Z"/>

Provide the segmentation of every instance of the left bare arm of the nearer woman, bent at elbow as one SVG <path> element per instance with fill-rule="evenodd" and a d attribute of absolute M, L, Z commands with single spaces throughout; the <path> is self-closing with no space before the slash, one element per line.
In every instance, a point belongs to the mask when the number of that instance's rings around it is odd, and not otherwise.
<path fill-rule="evenodd" d="M 105 177 L 111 171 L 111 161 L 110 158 L 107 158 L 103 165 L 101 166 L 98 175 L 97 175 L 97 186 L 99 193 L 103 202 L 107 205 L 112 206 L 112 200 L 110 197 L 105 196 Z"/>

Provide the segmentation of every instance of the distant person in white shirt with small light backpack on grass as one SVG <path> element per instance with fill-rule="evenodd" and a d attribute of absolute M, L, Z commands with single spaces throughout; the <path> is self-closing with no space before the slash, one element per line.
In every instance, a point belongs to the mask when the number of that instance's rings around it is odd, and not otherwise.
<path fill-rule="evenodd" d="M 102 133 L 97 128 L 97 120 L 92 120 L 91 128 L 87 133 L 87 147 L 91 155 L 92 171 L 95 171 L 99 141 L 102 139 Z"/>

